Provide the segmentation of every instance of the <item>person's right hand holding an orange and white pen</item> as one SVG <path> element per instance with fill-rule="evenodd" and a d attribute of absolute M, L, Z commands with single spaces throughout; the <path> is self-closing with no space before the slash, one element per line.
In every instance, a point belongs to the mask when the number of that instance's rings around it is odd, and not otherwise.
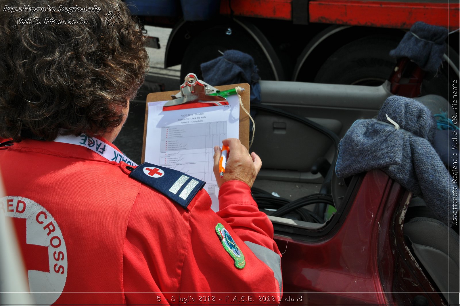
<path fill-rule="evenodd" d="M 222 141 L 224 146 L 228 146 L 229 154 L 225 166 L 224 177 L 219 174 L 219 159 L 221 156 L 220 148 L 214 147 L 214 176 L 217 185 L 220 186 L 227 181 L 238 180 L 247 183 L 249 187 L 253 186 L 254 180 L 262 167 L 262 161 L 256 153 L 247 151 L 241 141 L 236 138 L 228 138 Z"/>

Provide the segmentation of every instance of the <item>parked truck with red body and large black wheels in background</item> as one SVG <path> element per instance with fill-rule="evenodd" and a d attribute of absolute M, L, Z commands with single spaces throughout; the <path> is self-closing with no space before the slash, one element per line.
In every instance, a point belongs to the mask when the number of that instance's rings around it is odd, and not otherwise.
<path fill-rule="evenodd" d="M 263 80 L 378 86 L 396 64 L 389 51 L 415 22 L 450 31 L 460 28 L 460 3 L 448 0 L 176 0 L 134 5 L 139 10 L 133 14 L 145 25 L 173 29 L 165 68 L 181 64 L 181 80 L 191 71 L 201 77 L 201 63 L 236 49 L 253 56 Z M 458 33 L 447 42 L 450 62 L 436 80 L 424 84 L 424 95 L 448 90 L 448 75 L 459 62 Z"/>

